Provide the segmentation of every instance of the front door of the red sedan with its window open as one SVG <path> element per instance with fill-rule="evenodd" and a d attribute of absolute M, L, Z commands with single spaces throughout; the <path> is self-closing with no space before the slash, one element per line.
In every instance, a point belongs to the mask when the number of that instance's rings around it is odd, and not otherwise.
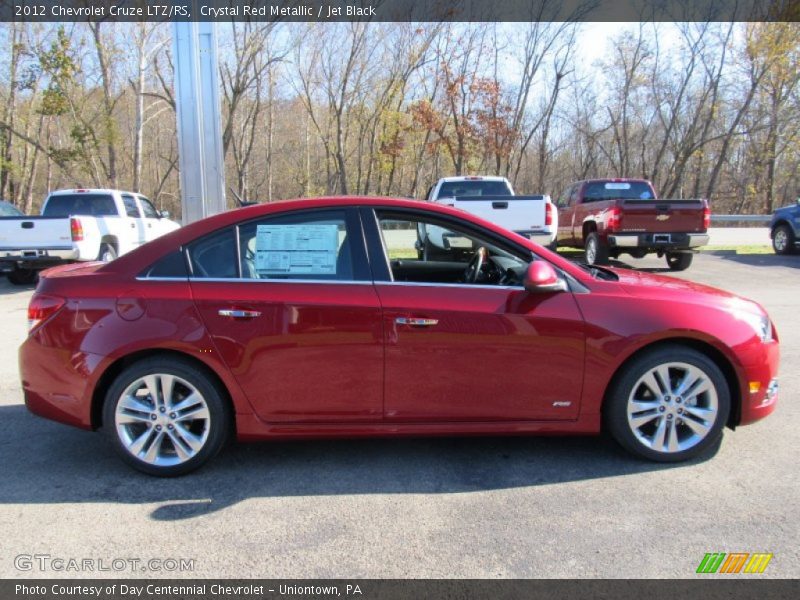
<path fill-rule="evenodd" d="M 428 216 L 378 212 L 390 281 L 384 310 L 387 421 L 533 421 L 577 418 L 584 323 L 570 292 L 530 294 L 530 260 L 457 224 L 451 258 L 418 259 Z M 464 248 L 475 248 L 465 256 Z M 476 264 L 477 253 L 485 258 Z M 476 273 L 477 269 L 477 273 Z"/>

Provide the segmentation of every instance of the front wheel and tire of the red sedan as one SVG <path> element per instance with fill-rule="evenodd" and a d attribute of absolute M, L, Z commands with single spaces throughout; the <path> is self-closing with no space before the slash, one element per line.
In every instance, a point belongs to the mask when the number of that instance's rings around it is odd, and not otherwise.
<path fill-rule="evenodd" d="M 652 392 L 644 378 L 648 375 L 652 377 L 657 368 L 668 374 L 670 383 L 667 390 L 659 391 L 660 397 L 653 395 L 651 399 L 648 393 Z M 674 395 L 683 382 L 679 379 L 682 373 L 690 380 L 697 377 L 699 382 L 702 378 L 703 383 L 708 384 L 709 391 L 694 396 L 690 393 L 686 397 Z M 661 385 L 660 380 L 650 381 Z M 689 387 L 692 390 L 701 386 L 693 383 Z M 629 415 L 629 403 L 634 399 L 636 404 L 630 405 Z M 728 383 L 714 361 L 692 348 L 667 345 L 645 352 L 623 367 L 607 393 L 603 419 L 606 429 L 629 452 L 657 462 L 680 462 L 706 452 L 719 442 L 722 429 L 728 421 L 730 405 Z M 713 419 L 704 421 L 697 417 L 696 413 L 712 409 L 713 412 L 703 414 L 713 414 Z M 690 420 L 693 424 L 691 427 L 687 424 Z M 664 433 L 659 436 L 662 423 Z M 695 428 L 705 429 L 705 432 L 700 435 Z M 649 437 L 651 431 L 652 439 Z M 673 431 L 676 443 L 673 448 L 666 448 L 665 445 L 672 440 Z M 697 439 L 694 439 L 695 435 Z M 685 447 L 681 448 L 681 445 Z M 660 446 L 661 449 L 655 449 L 654 446 Z"/>

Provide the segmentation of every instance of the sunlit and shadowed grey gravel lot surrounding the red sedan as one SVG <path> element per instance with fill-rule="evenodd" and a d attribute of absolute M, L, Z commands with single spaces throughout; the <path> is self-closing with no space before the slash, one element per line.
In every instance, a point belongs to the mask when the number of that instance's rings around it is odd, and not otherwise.
<path fill-rule="evenodd" d="M 0 577 L 98 575 L 15 564 L 46 554 L 194 560 L 106 577 L 683 578 L 706 552 L 772 552 L 763 576 L 797 578 L 800 257 L 711 251 L 680 276 L 761 302 L 782 340 L 776 412 L 726 432 L 712 458 L 655 465 L 604 438 L 264 443 L 173 480 L 26 411 L 16 355 L 31 290 L 2 280 Z"/>

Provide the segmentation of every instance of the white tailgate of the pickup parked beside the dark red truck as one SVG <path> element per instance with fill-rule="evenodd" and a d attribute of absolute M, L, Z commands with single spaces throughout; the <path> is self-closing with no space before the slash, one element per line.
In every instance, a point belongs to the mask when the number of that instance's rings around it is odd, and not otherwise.
<path fill-rule="evenodd" d="M 474 196 L 441 198 L 440 204 L 455 206 L 512 231 L 542 229 L 545 225 L 544 196 Z"/>

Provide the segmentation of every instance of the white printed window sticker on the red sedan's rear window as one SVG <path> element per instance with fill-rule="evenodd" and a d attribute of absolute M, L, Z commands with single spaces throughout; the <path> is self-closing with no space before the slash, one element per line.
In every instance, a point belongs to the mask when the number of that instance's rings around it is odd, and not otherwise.
<path fill-rule="evenodd" d="M 259 275 L 336 275 L 338 250 L 336 224 L 256 227 Z"/>

